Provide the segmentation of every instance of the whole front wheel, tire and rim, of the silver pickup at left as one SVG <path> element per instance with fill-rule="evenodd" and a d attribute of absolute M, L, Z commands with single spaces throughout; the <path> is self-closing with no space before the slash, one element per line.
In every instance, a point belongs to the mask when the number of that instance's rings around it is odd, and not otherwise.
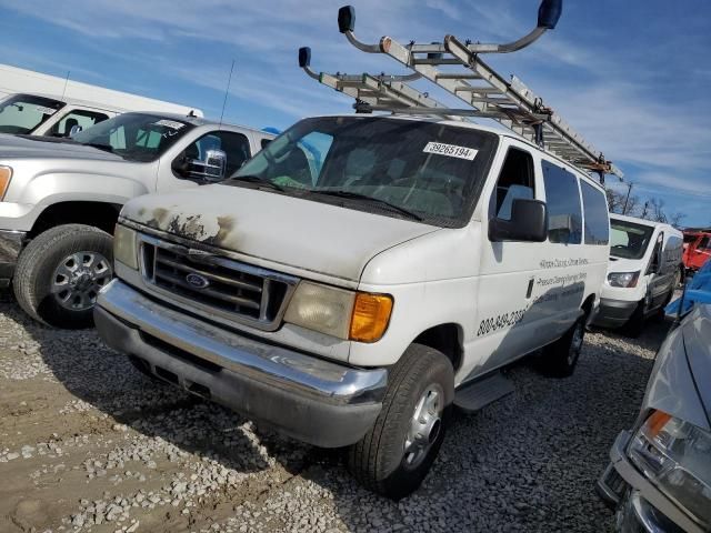
<path fill-rule="evenodd" d="M 113 276 L 108 233 L 82 224 L 58 225 L 34 238 L 18 261 L 13 280 L 20 306 L 56 328 L 93 324 L 99 290 Z"/>

